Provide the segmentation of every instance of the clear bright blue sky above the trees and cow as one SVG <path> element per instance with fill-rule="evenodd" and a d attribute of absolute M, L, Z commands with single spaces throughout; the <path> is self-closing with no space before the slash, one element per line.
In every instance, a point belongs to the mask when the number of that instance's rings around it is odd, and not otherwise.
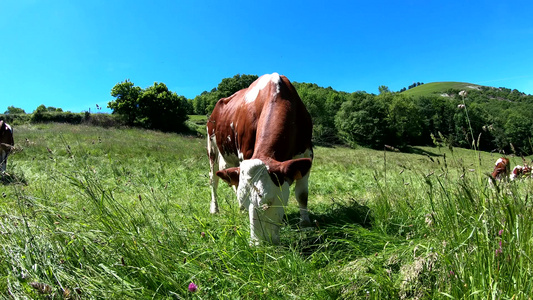
<path fill-rule="evenodd" d="M 533 94 L 533 1 L 0 0 L 0 113 L 187 98 L 278 72 L 346 92 L 465 81 Z"/>

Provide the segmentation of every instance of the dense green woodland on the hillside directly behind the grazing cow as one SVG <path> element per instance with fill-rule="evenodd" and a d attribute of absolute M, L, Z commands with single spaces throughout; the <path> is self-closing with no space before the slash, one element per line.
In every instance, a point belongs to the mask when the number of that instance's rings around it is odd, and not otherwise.
<path fill-rule="evenodd" d="M 193 113 L 209 114 L 216 101 L 258 76 L 235 75 L 192 100 Z M 414 83 L 413 88 L 423 83 Z M 406 96 L 380 86 L 380 94 L 347 93 L 293 82 L 313 118 L 316 144 L 383 149 L 447 145 L 531 154 L 533 96 L 508 88 L 444 91 L 446 96 Z M 461 95 L 462 94 L 462 95 Z"/>

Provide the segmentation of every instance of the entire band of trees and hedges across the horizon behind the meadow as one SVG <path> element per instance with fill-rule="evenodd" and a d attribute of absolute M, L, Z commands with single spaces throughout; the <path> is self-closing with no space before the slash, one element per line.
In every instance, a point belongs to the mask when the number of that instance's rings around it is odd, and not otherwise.
<path fill-rule="evenodd" d="M 205 131 L 191 128 L 189 115 L 209 115 L 215 103 L 248 87 L 257 75 L 224 78 L 211 91 L 194 99 L 172 92 L 164 83 L 147 88 L 129 80 L 111 89 L 111 118 L 102 114 L 74 114 L 61 108 L 39 106 L 32 122 L 90 122 L 137 126 L 162 131 Z M 418 86 L 423 83 L 416 83 Z M 353 93 L 293 82 L 313 118 L 313 139 L 318 145 L 344 144 L 383 149 L 447 145 L 485 151 L 528 155 L 533 152 L 533 96 L 507 88 L 450 89 L 444 95 L 407 96 L 380 86 L 379 94 Z M 412 88 L 410 86 L 410 88 Z M 10 106 L 5 118 L 25 114 Z M 192 130 L 191 130 L 192 129 Z M 205 133 L 204 133 L 205 134 Z"/>

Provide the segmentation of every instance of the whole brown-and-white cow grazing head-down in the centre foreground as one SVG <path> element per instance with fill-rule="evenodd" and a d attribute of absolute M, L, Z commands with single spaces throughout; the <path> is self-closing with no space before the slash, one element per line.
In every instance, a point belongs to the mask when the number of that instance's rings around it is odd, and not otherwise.
<path fill-rule="evenodd" d="M 278 244 L 289 187 L 295 182 L 300 225 L 309 226 L 312 127 L 294 86 L 277 73 L 220 99 L 207 122 L 211 213 L 218 212 L 222 178 L 235 189 L 240 208 L 248 209 L 251 242 Z"/>

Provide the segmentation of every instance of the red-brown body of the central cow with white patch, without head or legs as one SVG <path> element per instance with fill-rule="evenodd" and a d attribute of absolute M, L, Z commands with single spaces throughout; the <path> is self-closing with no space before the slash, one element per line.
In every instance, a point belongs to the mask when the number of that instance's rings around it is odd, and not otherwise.
<path fill-rule="evenodd" d="M 265 77 L 267 76 L 267 77 Z M 222 155 L 285 161 L 311 149 L 312 121 L 285 76 L 264 75 L 220 99 L 207 124 Z"/>

